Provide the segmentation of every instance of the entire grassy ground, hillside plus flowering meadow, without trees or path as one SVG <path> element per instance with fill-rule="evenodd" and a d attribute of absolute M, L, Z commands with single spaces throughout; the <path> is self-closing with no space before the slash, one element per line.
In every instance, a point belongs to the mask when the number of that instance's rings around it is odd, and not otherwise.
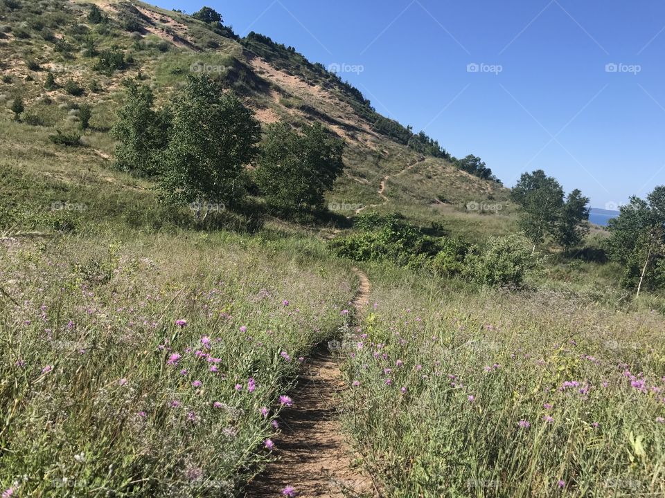
<path fill-rule="evenodd" d="M 0 0 L 0 68 L 3 498 L 240 497 L 342 335 L 334 415 L 385 496 L 665 492 L 665 299 L 619 286 L 605 230 L 574 255 L 497 238 L 508 190 L 322 66 L 138 1 Z M 123 80 L 163 104 L 202 72 L 263 124 L 344 138 L 327 218 L 204 225 L 114 169 Z"/>

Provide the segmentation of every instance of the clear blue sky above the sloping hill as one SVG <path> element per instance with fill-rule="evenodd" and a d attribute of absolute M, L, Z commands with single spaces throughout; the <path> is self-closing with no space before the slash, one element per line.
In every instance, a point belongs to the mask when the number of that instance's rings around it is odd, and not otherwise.
<path fill-rule="evenodd" d="M 544 169 L 594 208 L 665 185 L 662 0 L 152 0 L 291 45 L 508 187 Z"/>

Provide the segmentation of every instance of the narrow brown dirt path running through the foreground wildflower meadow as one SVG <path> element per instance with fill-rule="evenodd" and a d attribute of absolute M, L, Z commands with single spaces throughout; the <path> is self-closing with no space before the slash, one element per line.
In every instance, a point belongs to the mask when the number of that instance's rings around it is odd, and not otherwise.
<path fill-rule="evenodd" d="M 361 270 L 353 271 L 360 280 L 353 306 L 361 315 L 371 284 Z M 353 468 L 353 450 L 337 413 L 336 398 L 344 389 L 339 360 L 321 344 L 299 376 L 293 406 L 281 413 L 281 432 L 273 438 L 278 459 L 249 484 L 245 498 L 283 497 L 287 486 L 300 498 L 378 495 L 371 479 Z"/>

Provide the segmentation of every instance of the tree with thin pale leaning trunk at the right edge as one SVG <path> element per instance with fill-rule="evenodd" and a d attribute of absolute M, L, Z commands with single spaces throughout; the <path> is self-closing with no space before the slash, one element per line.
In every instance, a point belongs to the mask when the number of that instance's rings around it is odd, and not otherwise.
<path fill-rule="evenodd" d="M 608 225 L 610 257 L 623 266 L 622 283 L 637 289 L 665 286 L 665 186 L 656 187 L 646 201 L 637 196 L 621 206 Z"/>

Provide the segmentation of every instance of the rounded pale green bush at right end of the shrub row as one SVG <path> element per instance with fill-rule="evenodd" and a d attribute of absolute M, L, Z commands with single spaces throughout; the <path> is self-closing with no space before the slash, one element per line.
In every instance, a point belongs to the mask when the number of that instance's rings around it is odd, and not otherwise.
<path fill-rule="evenodd" d="M 475 246 L 465 259 L 464 274 L 490 286 L 520 286 L 538 258 L 519 234 L 491 237 L 485 248 Z"/>

